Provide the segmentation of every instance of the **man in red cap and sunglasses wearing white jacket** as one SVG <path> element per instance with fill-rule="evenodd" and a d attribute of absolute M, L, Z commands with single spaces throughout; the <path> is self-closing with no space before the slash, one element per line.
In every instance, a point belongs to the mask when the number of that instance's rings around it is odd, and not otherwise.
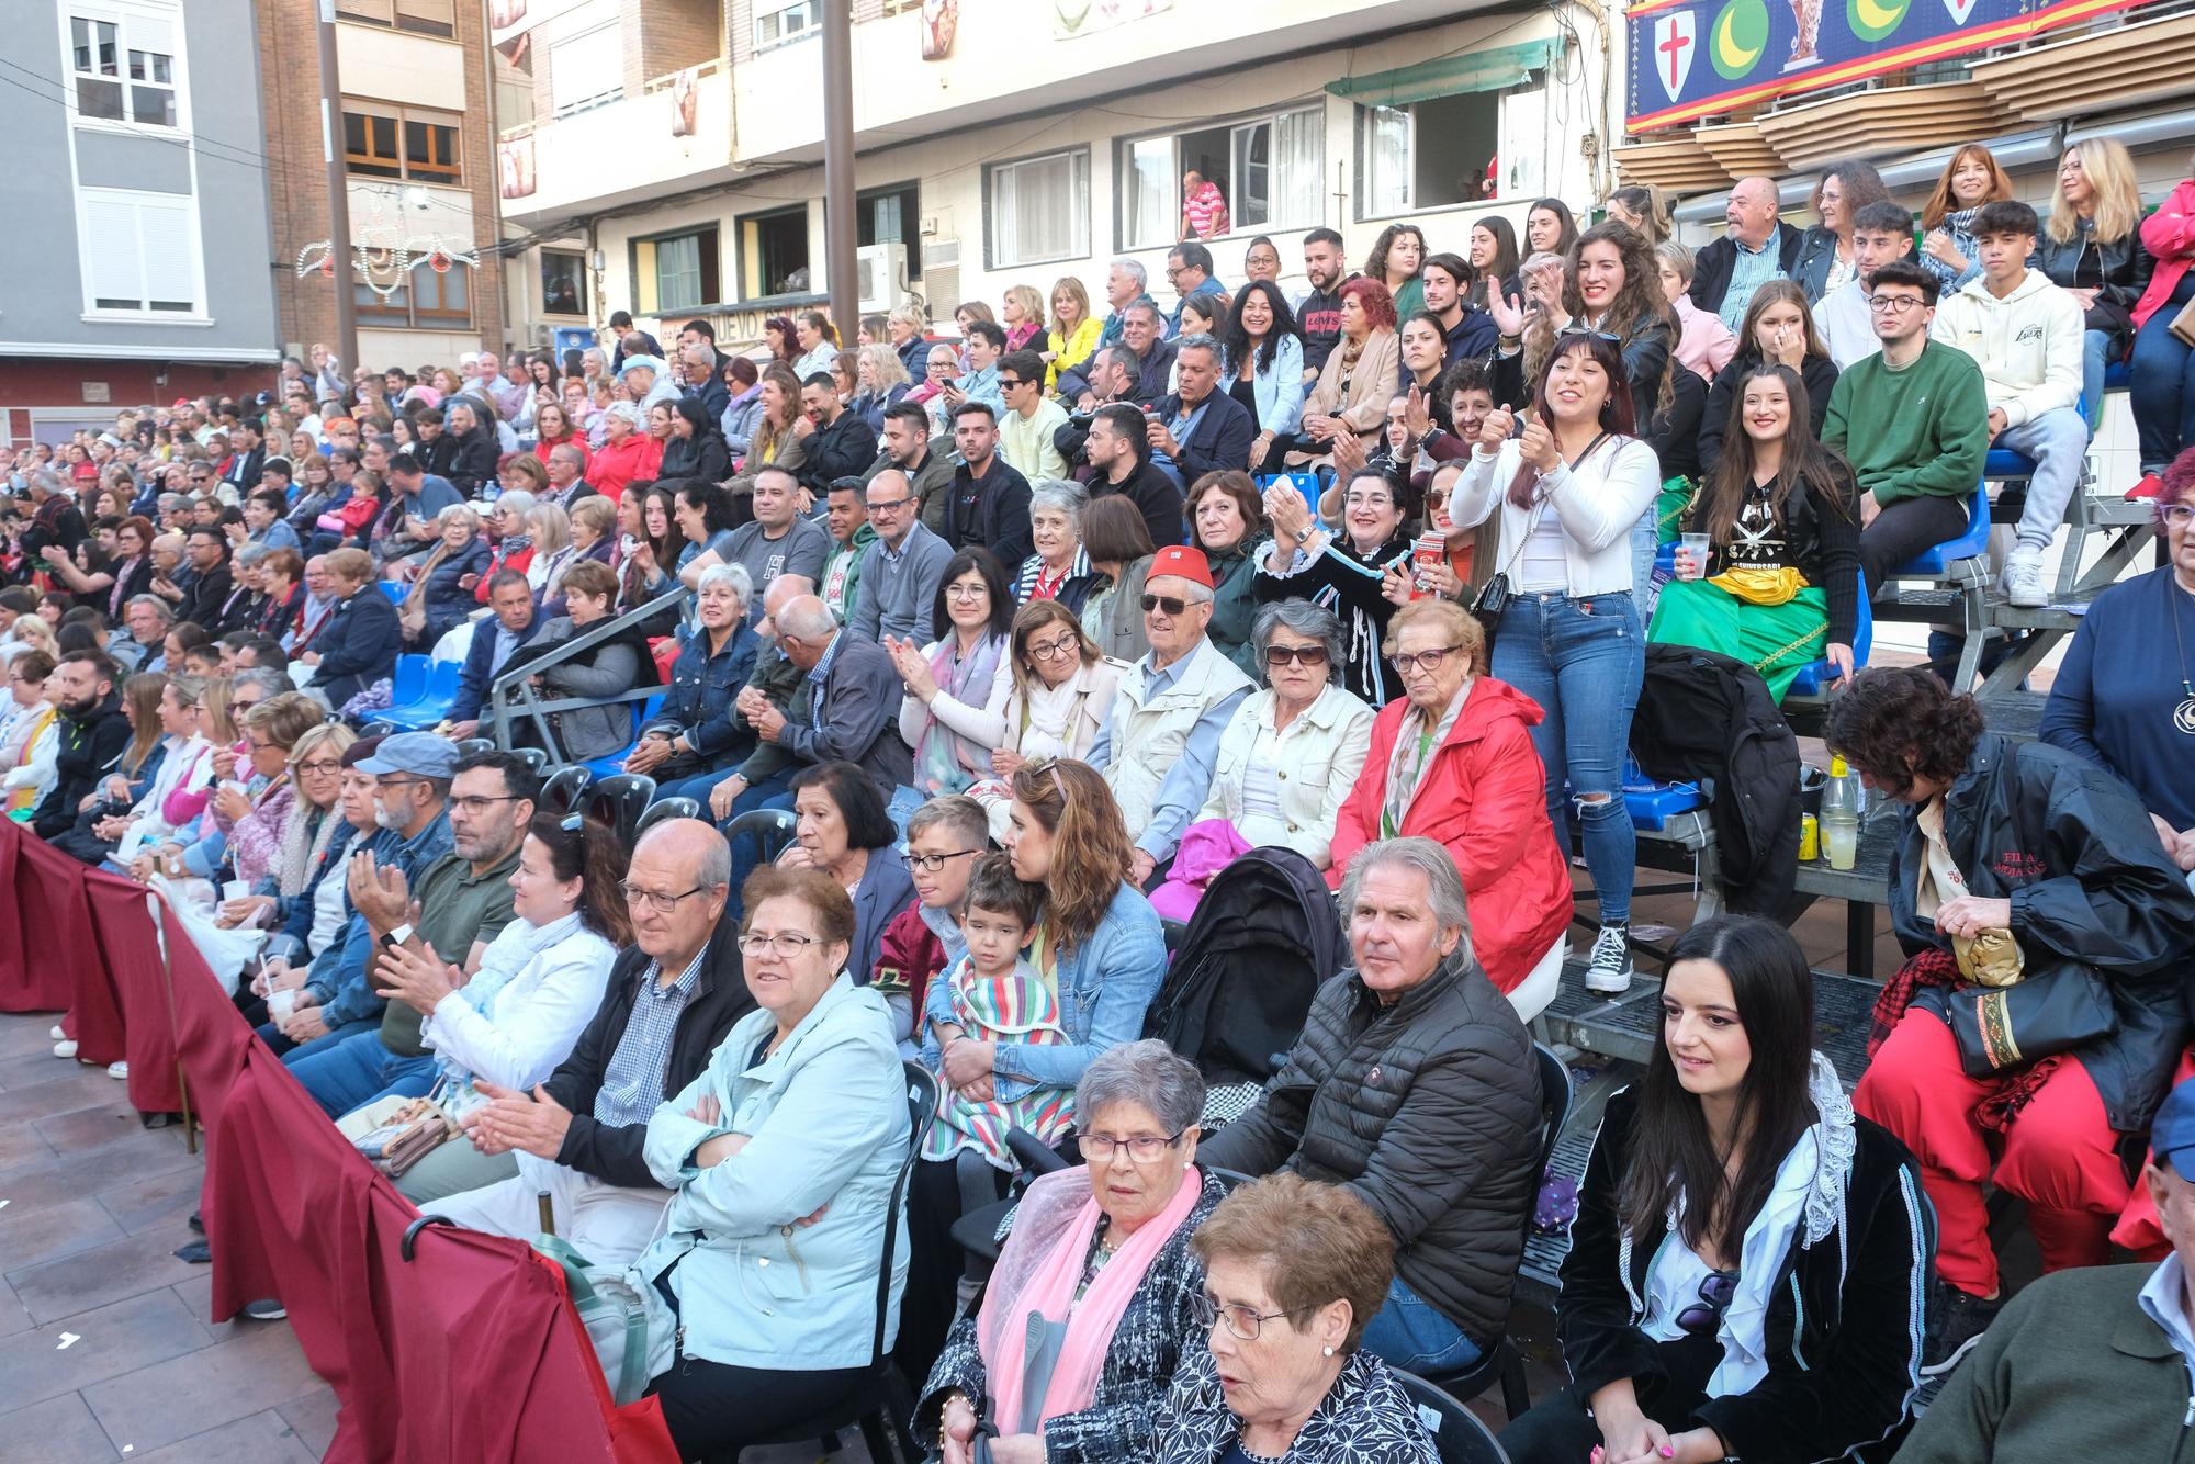
<path fill-rule="evenodd" d="M 1148 887 L 1172 865 L 1181 830 L 1212 792 L 1220 733 L 1251 680 L 1205 634 L 1212 566 L 1201 549 L 1168 544 L 1144 579 L 1150 654 L 1119 678 L 1113 711 L 1091 746 L 1135 841 L 1130 876 Z"/>

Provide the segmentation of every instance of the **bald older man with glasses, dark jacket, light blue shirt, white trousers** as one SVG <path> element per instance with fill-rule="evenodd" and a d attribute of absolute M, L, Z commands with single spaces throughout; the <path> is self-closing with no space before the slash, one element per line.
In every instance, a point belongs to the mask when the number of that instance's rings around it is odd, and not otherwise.
<path fill-rule="evenodd" d="M 571 1056 L 531 1093 L 474 1084 L 489 1104 L 468 1117 L 468 1135 L 483 1155 L 516 1152 L 518 1176 L 439 1198 L 435 1214 L 531 1238 L 547 1194 L 555 1234 L 582 1255 L 606 1266 L 639 1258 L 669 1203 L 648 1170 L 648 1119 L 755 1010 L 729 902 L 722 834 L 698 819 L 641 834 L 626 869 L 632 946 Z"/>

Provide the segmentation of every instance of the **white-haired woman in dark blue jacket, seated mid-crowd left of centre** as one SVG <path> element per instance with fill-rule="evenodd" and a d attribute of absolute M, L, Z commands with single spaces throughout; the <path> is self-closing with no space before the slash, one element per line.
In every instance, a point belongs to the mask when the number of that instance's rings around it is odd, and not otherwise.
<path fill-rule="evenodd" d="M 663 709 L 626 757 L 626 773 L 656 779 L 658 799 L 707 803 L 724 770 L 755 751 L 755 733 L 731 711 L 762 650 L 746 623 L 753 599 L 744 564 L 711 564 L 700 573 L 694 590 L 700 623 L 685 634 Z"/>

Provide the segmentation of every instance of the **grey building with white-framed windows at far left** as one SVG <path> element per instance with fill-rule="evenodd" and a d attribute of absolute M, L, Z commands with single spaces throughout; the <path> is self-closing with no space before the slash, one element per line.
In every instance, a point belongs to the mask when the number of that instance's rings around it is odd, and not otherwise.
<path fill-rule="evenodd" d="M 0 439 L 257 386 L 279 356 L 252 11 L 0 0 Z"/>

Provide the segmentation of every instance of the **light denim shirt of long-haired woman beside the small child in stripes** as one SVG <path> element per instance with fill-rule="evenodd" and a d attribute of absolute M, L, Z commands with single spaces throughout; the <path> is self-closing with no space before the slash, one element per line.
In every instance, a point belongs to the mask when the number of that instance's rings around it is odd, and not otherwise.
<path fill-rule="evenodd" d="M 992 1091 L 1014 1102 L 1034 1089 L 1071 1089 L 1102 1054 L 1144 1036 L 1144 1014 L 1166 977 L 1166 926 L 1126 880 L 1104 920 L 1080 946 L 1060 953 L 1060 1027 L 1067 1040 L 1049 1047 L 999 1043 Z"/>

